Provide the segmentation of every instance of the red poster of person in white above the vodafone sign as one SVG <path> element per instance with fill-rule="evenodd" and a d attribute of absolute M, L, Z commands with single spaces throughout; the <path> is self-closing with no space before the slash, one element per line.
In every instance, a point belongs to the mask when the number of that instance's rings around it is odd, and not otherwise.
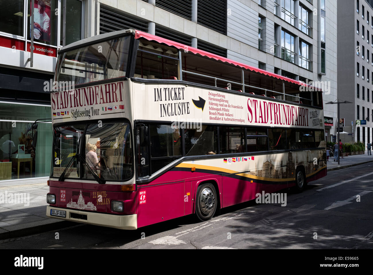
<path fill-rule="evenodd" d="M 50 42 L 50 1 L 33 0 L 34 22 L 31 26 L 34 39 Z"/>

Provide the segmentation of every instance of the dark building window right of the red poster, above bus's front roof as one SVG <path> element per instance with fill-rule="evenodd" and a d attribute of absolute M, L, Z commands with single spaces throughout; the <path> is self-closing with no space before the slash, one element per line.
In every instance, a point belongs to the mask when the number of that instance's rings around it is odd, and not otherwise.
<path fill-rule="evenodd" d="M 61 1 L 61 6 L 63 6 Z M 63 10 L 63 9 L 62 9 Z M 66 0 L 66 19 L 63 19 L 63 12 L 59 14 L 60 24 L 60 46 L 69 45 L 82 39 L 82 1 Z M 63 41 L 63 22 L 65 25 L 65 42 Z"/>

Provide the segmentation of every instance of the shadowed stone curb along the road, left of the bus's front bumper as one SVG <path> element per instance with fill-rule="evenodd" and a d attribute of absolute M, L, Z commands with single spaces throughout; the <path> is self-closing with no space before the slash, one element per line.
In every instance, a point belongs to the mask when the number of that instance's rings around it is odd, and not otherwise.
<path fill-rule="evenodd" d="M 58 222 L 53 222 L 51 224 L 43 224 L 43 225 L 32 226 L 28 228 L 17 229 L 13 231 L 7 231 L 7 232 L 0 233 L 0 240 L 9 239 L 9 238 L 25 237 L 28 235 L 44 233 L 44 232 L 48 232 L 54 229 L 61 229 L 61 228 L 66 228 L 70 226 L 75 226 L 75 225 L 79 225 L 79 224 L 76 222 L 70 222 L 70 221 L 58 221 Z"/>

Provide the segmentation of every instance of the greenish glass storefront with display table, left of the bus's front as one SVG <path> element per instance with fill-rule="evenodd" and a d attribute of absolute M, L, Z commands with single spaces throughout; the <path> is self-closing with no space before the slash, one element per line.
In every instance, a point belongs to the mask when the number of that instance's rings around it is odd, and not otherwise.
<path fill-rule="evenodd" d="M 50 106 L 0 103 L 0 181 L 49 176 Z"/>

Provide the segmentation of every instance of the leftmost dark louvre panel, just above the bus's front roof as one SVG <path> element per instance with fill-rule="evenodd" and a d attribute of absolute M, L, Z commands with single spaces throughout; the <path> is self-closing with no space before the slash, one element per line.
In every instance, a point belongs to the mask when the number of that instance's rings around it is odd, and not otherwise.
<path fill-rule="evenodd" d="M 148 30 L 147 24 L 126 17 L 118 11 L 109 10 L 104 5 L 100 5 L 100 34 L 131 28 L 139 31 Z"/>

